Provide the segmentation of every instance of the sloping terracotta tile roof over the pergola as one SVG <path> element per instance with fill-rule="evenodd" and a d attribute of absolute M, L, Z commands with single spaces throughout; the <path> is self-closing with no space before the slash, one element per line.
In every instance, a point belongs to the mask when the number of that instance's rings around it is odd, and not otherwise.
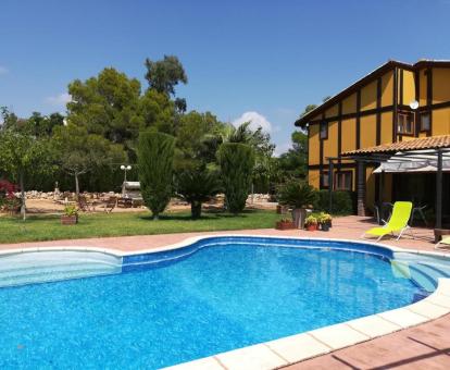
<path fill-rule="evenodd" d="M 342 156 L 389 153 L 420 149 L 450 148 L 450 135 L 421 137 L 412 140 L 378 145 L 376 147 L 345 151 Z"/>

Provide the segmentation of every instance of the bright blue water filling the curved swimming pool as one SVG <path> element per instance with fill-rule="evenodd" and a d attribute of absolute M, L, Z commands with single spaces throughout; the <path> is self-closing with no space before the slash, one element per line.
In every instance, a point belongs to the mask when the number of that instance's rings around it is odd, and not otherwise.
<path fill-rule="evenodd" d="M 386 249 L 286 243 L 211 238 L 122 273 L 2 287 L 0 368 L 154 369 L 424 297 Z"/>

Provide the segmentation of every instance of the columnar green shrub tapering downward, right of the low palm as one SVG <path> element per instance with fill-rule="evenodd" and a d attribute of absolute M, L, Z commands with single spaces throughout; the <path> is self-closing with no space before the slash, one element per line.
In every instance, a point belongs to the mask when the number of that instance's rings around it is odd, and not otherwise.
<path fill-rule="evenodd" d="M 250 192 L 254 151 L 246 144 L 225 143 L 218 149 L 217 159 L 226 207 L 232 213 L 239 213 L 246 207 Z"/>

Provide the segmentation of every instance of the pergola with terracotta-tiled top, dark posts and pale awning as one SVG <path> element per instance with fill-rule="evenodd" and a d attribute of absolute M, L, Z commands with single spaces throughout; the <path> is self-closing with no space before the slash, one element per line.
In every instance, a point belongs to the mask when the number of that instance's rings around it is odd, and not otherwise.
<path fill-rule="evenodd" d="M 328 157 L 329 211 L 333 210 L 334 166 L 342 162 L 357 163 L 357 203 L 358 214 L 365 215 L 365 165 L 379 164 L 380 175 L 378 200 L 383 199 L 385 173 L 430 173 L 436 172 L 436 224 L 442 227 L 442 172 L 450 171 L 450 135 L 415 138 L 380 145 L 371 148 L 342 152 Z M 446 165 L 443 165 L 446 163 Z"/>

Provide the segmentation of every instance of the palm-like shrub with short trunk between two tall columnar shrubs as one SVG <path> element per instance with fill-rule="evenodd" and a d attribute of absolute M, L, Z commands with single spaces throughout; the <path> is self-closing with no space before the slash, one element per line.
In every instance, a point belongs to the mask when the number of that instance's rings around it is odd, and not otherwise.
<path fill-rule="evenodd" d="M 208 170 L 185 170 L 175 176 L 175 194 L 190 203 L 192 219 L 199 219 L 202 203 L 221 190 L 217 174 Z"/>

